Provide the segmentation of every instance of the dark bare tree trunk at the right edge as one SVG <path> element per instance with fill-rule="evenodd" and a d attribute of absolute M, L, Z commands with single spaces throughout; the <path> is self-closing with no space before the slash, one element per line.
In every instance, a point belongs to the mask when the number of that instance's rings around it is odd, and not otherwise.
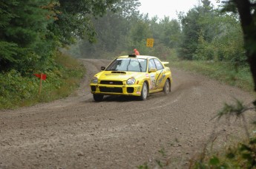
<path fill-rule="evenodd" d="M 252 16 L 252 4 L 249 0 L 235 0 L 235 3 L 240 15 L 247 61 L 252 72 L 256 92 L 256 21 Z M 254 11 L 254 13 L 256 12 Z"/>

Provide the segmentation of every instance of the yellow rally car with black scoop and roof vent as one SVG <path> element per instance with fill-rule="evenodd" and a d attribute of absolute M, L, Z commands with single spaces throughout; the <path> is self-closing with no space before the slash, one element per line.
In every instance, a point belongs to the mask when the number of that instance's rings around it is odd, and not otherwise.
<path fill-rule="evenodd" d="M 112 61 L 91 80 L 91 93 L 96 102 L 104 95 L 132 95 L 146 100 L 148 94 L 171 92 L 171 70 L 157 57 L 124 55 Z"/>

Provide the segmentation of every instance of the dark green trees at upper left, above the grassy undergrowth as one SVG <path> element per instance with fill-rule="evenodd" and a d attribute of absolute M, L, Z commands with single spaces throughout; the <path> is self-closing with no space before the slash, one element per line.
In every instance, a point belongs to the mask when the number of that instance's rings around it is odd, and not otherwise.
<path fill-rule="evenodd" d="M 50 69 L 57 47 L 93 39 L 91 19 L 114 10 L 108 1 L 0 1 L 0 71 Z"/>

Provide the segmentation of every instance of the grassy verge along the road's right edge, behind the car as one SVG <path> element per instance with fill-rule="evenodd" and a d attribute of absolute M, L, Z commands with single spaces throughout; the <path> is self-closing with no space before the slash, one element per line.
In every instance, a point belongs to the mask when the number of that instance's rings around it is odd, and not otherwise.
<path fill-rule="evenodd" d="M 249 66 L 234 66 L 232 63 L 214 61 L 172 61 L 170 59 L 169 62 L 171 67 L 206 75 L 253 94 L 253 80 Z"/>

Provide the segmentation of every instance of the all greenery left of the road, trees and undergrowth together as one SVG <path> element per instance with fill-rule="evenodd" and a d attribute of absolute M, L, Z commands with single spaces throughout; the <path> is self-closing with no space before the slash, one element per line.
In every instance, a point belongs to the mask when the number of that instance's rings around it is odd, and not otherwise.
<path fill-rule="evenodd" d="M 78 83 L 74 79 L 81 78 L 84 70 L 79 66 L 62 66 L 59 61 L 66 57 L 58 50 L 77 38 L 93 41 L 91 20 L 106 10 L 115 10 L 114 2 L 0 0 L 0 108 L 30 105 L 69 94 L 73 83 Z M 37 97 L 39 82 L 33 74 L 41 72 L 47 75 L 45 94 Z M 57 91 L 62 92 L 53 94 Z"/>

